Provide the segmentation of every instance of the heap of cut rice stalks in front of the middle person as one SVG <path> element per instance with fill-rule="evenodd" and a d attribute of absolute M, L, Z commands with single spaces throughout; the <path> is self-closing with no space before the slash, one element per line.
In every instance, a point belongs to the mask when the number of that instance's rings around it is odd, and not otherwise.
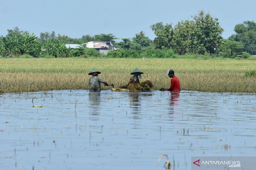
<path fill-rule="evenodd" d="M 140 84 L 128 83 L 125 86 L 121 86 L 122 89 L 127 89 L 130 92 L 134 91 L 151 91 L 151 87 L 153 87 L 153 83 L 151 81 L 144 81 Z"/>

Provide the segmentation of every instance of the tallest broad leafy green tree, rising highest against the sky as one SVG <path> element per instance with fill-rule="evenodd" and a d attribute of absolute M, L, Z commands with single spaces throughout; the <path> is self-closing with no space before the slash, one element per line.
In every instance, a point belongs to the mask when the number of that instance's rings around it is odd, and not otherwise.
<path fill-rule="evenodd" d="M 221 44 L 221 34 L 218 19 L 200 11 L 192 20 L 178 22 L 174 28 L 173 44 L 179 54 L 216 53 Z"/>

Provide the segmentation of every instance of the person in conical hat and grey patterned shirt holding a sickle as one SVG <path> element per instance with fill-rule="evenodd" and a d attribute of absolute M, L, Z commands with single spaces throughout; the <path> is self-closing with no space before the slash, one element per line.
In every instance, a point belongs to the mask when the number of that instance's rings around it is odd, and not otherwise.
<path fill-rule="evenodd" d="M 98 74 L 100 73 L 101 72 L 99 72 L 95 68 L 92 71 L 90 71 L 90 73 L 88 73 L 89 75 L 92 75 L 92 77 L 90 77 L 89 79 L 90 92 L 100 92 L 100 83 L 105 84 L 105 86 L 109 86 L 109 84 L 105 80 L 98 76 Z"/>

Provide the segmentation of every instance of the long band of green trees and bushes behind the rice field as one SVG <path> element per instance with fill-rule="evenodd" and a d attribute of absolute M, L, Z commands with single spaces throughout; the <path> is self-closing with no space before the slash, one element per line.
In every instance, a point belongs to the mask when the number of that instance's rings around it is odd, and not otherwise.
<path fill-rule="evenodd" d="M 256 23 L 245 21 L 235 25 L 235 34 L 223 39 L 220 23 L 209 13 L 200 11 L 190 20 L 182 20 L 176 25 L 162 22 L 152 24 L 155 38 L 151 40 L 143 31 L 132 38 L 122 38 L 116 42 L 113 34 L 83 35 L 70 38 L 56 35 L 54 31 L 41 32 L 40 37 L 21 31 L 18 27 L 8 29 L 8 34 L 0 38 L 0 55 L 33 57 L 50 55 L 53 57 L 177 57 L 177 55 L 203 55 L 211 57 L 248 58 L 256 55 Z M 106 56 L 94 49 L 79 48 L 71 50 L 65 44 L 85 44 L 90 41 L 111 41 L 118 51 L 110 51 Z"/>

